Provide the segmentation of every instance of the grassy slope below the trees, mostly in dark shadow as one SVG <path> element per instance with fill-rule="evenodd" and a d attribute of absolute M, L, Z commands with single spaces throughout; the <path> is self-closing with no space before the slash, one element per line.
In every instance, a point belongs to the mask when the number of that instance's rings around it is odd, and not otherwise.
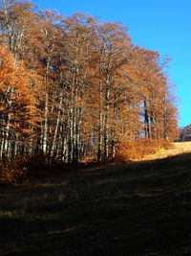
<path fill-rule="evenodd" d="M 0 255 L 191 255 L 191 143 L 0 187 Z"/>

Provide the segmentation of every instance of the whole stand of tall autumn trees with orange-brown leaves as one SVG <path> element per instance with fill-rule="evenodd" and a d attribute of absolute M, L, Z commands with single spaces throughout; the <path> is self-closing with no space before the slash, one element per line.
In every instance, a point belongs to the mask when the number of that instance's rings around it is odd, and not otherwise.
<path fill-rule="evenodd" d="M 0 35 L 1 168 L 134 157 L 179 136 L 169 59 L 120 22 L 2 0 Z"/>

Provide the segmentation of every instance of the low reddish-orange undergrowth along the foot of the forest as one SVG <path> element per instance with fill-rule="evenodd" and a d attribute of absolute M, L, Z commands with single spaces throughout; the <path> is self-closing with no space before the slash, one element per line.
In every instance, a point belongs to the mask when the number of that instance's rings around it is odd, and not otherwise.
<path fill-rule="evenodd" d="M 169 149 L 173 143 L 169 140 L 159 139 L 138 139 L 132 141 L 121 141 L 120 146 L 117 146 L 117 153 L 115 159 L 112 157 L 103 158 L 102 163 L 118 162 L 124 163 L 135 159 L 141 159 L 145 155 L 154 154 L 161 149 Z M 7 163 L 6 166 L 0 166 L 0 184 L 15 184 L 24 183 L 29 180 L 31 176 L 40 176 L 47 174 L 55 174 L 55 170 L 62 172 L 81 169 L 84 166 L 91 166 L 96 163 L 95 158 L 85 158 L 78 166 L 68 165 L 61 161 L 53 162 L 50 167 L 46 163 L 45 157 L 42 154 L 36 154 L 32 157 L 17 157 Z M 52 172 L 53 171 L 53 172 Z"/>

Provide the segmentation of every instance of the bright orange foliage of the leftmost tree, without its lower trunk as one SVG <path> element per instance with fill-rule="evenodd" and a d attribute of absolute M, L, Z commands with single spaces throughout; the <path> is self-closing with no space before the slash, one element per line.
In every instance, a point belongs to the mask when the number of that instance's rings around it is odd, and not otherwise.
<path fill-rule="evenodd" d="M 32 124 L 35 98 L 27 71 L 20 61 L 16 63 L 6 47 L 0 48 L 0 103 L 1 111 L 11 116 L 11 127 L 29 134 L 26 125 Z"/>

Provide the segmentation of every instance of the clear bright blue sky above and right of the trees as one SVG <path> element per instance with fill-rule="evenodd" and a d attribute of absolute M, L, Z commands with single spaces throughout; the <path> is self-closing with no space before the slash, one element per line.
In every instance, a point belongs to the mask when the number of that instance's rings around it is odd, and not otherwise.
<path fill-rule="evenodd" d="M 32 0 L 41 10 L 55 9 L 121 21 L 135 44 L 172 58 L 168 71 L 177 85 L 180 126 L 191 123 L 191 0 Z"/>

